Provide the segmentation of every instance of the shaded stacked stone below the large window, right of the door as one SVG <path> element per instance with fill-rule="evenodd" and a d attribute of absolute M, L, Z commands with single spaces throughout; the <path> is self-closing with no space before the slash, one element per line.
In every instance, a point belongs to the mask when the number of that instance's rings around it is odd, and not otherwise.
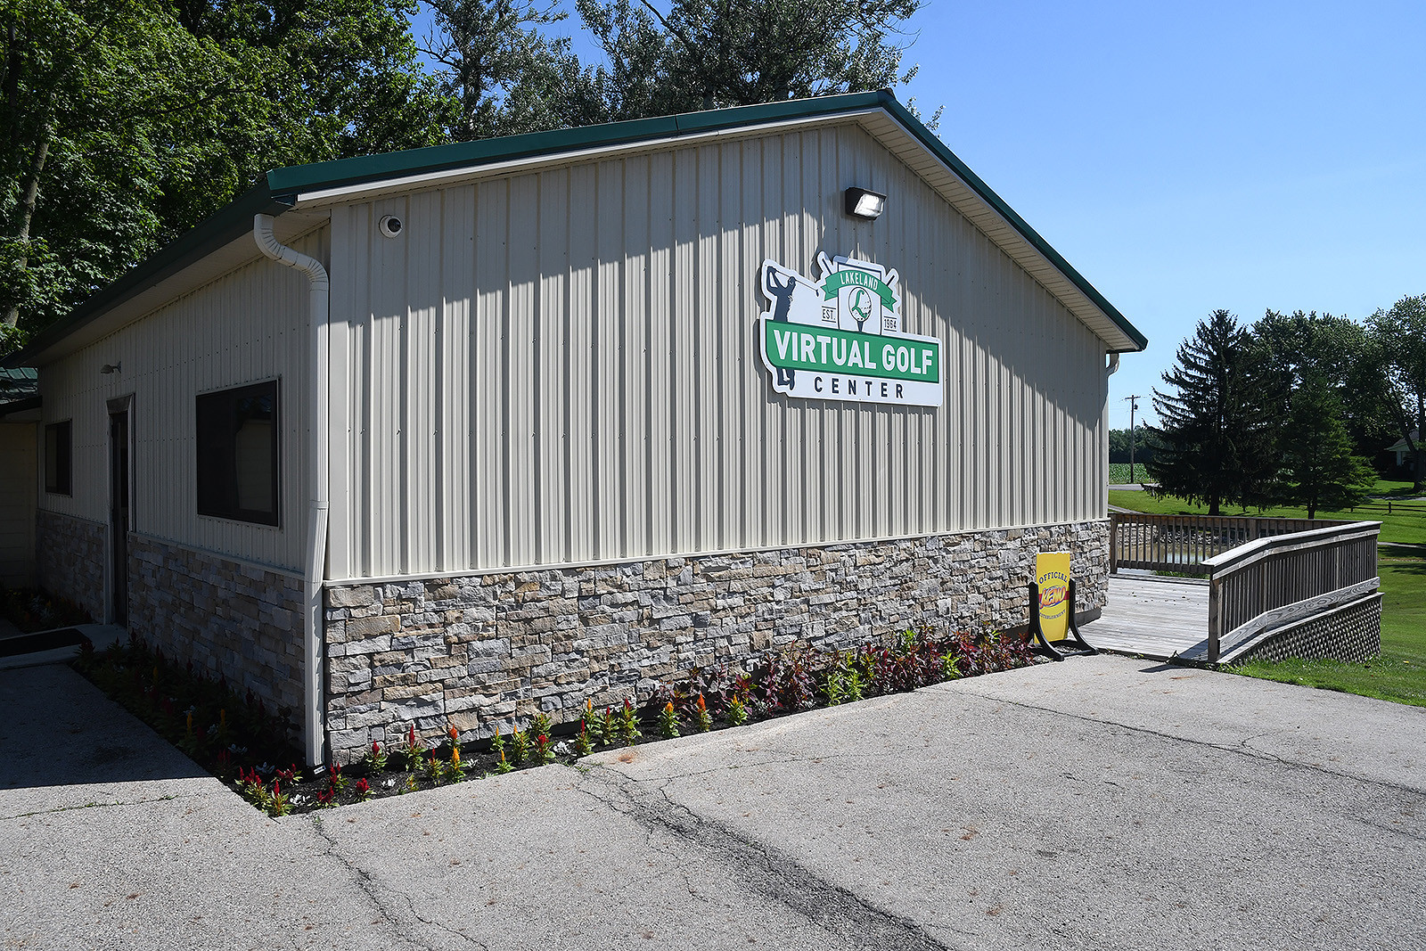
<path fill-rule="evenodd" d="M 128 536 L 128 629 L 180 663 L 302 709 L 301 577 Z"/>

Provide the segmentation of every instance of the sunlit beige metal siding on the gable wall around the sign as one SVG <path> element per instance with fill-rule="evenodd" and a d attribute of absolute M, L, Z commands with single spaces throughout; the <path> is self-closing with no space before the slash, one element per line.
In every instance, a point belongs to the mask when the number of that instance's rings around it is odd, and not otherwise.
<path fill-rule="evenodd" d="M 853 184 L 880 220 L 843 215 Z M 332 577 L 1105 512 L 1105 345 L 856 125 L 354 204 L 332 235 Z M 900 272 L 943 406 L 773 394 L 759 267 L 819 251 Z"/>

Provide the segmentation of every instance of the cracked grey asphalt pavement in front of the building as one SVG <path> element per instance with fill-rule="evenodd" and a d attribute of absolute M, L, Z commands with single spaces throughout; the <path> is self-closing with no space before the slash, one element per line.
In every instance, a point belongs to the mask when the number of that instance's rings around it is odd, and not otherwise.
<path fill-rule="evenodd" d="M 3 948 L 1426 947 L 1426 709 L 1071 659 L 270 820 L 0 672 Z"/>

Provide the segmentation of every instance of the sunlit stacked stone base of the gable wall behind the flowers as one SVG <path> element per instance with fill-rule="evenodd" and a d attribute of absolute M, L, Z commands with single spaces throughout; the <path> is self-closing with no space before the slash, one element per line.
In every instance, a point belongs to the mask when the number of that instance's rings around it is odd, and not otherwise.
<path fill-rule="evenodd" d="M 327 592 L 338 760 L 409 724 L 428 739 L 576 720 L 710 664 L 848 647 L 910 624 L 1022 627 L 1038 552 L 1070 550 L 1078 610 L 1108 593 L 1108 522 L 345 585 Z"/>

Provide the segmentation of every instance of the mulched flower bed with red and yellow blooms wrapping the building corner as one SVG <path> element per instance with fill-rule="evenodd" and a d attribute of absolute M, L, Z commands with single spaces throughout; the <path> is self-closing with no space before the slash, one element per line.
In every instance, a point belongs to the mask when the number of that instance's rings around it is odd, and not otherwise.
<path fill-rule="evenodd" d="M 222 683 L 194 677 L 191 670 L 165 663 L 161 653 L 148 652 L 143 642 L 100 656 L 88 652 L 76 666 L 255 807 L 285 816 L 548 763 L 573 763 L 645 739 L 739 727 L 1035 660 L 1022 637 L 937 637 L 933 629 L 923 627 L 886 646 L 770 653 L 744 670 L 693 672 L 680 686 L 666 687 L 639 704 L 625 700 L 619 707 L 596 710 L 586 703 L 578 723 L 559 726 L 542 713 L 523 729 L 498 733 L 493 740 L 462 741 L 452 727 L 448 740 L 426 747 L 409 727 L 401 749 L 375 743 L 362 763 L 331 766 L 318 776 L 304 776 L 295 766 L 299 756 L 289 743 L 289 711 L 270 713 L 261 701 L 254 704 L 251 694 L 240 699 Z M 180 674 L 187 674 L 187 682 Z"/>

